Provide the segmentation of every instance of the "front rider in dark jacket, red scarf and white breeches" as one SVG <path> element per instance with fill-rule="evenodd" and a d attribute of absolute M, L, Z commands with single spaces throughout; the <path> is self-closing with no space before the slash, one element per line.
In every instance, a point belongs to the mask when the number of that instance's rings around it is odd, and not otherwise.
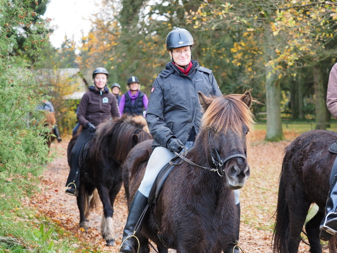
<path fill-rule="evenodd" d="M 119 252 L 133 253 L 135 237 L 140 231 L 140 217 L 148 203 L 148 197 L 156 176 L 174 152 L 180 152 L 194 145 L 199 131 L 202 110 L 198 91 L 206 96 L 222 96 L 218 84 L 208 68 L 201 67 L 191 60 L 194 40 L 185 29 L 176 28 L 166 37 L 166 49 L 171 62 L 155 79 L 148 104 L 146 119 L 153 136 L 153 153 L 149 159 L 145 175 L 130 205 L 127 224 Z M 239 213 L 238 190 L 235 190 L 237 212 Z M 228 252 L 232 253 L 238 240 L 239 231 L 233 235 L 233 244 Z M 239 252 L 235 247 L 234 252 Z"/>

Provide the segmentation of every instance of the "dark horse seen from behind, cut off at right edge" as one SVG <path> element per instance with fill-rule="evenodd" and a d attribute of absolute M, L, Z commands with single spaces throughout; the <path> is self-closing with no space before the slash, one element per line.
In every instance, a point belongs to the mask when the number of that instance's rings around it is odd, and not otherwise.
<path fill-rule="evenodd" d="M 316 203 L 319 210 L 306 223 L 305 231 L 310 252 L 322 253 L 319 227 L 336 158 L 328 148 L 336 141 L 335 132 L 312 130 L 298 136 L 286 148 L 280 174 L 273 252 L 297 253 L 310 205 Z M 335 245 L 331 246 L 335 248 Z"/>

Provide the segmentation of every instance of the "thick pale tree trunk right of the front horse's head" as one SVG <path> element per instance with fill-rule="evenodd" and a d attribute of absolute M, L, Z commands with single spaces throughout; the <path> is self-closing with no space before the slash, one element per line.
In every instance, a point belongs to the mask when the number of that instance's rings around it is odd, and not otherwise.
<path fill-rule="evenodd" d="M 273 47 L 273 35 L 266 29 L 267 62 L 276 57 Z M 277 74 L 270 65 L 266 66 L 266 102 L 267 102 L 267 134 L 266 141 L 278 142 L 284 140 L 281 122 L 281 87 Z"/>

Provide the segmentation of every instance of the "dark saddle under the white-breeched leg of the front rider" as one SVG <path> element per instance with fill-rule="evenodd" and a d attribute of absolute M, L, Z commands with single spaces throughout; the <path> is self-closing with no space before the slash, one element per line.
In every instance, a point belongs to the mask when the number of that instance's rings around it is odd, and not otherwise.
<path fill-rule="evenodd" d="M 179 156 L 173 157 L 171 159 L 172 162 L 174 163 L 178 163 L 180 162 L 182 159 Z M 149 196 L 149 206 L 151 206 L 152 204 L 155 204 L 158 196 L 161 192 L 161 189 L 164 186 L 164 182 L 167 179 L 167 176 L 170 174 L 170 172 L 172 171 L 172 169 L 176 167 L 175 165 L 170 165 L 169 163 L 166 164 L 161 171 L 159 172 L 158 176 L 156 177 L 155 183 L 152 186 L 151 192 L 150 192 L 150 196 Z"/>

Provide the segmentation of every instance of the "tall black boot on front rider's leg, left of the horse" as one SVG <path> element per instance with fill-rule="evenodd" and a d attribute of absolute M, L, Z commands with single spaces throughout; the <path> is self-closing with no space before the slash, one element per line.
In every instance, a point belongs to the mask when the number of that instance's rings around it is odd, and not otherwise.
<path fill-rule="evenodd" d="M 136 233 L 140 232 L 142 219 L 148 209 L 148 198 L 139 191 L 131 202 L 127 223 L 124 227 L 123 239 L 119 252 L 134 253 Z M 139 247 L 139 245 L 138 245 Z"/>

